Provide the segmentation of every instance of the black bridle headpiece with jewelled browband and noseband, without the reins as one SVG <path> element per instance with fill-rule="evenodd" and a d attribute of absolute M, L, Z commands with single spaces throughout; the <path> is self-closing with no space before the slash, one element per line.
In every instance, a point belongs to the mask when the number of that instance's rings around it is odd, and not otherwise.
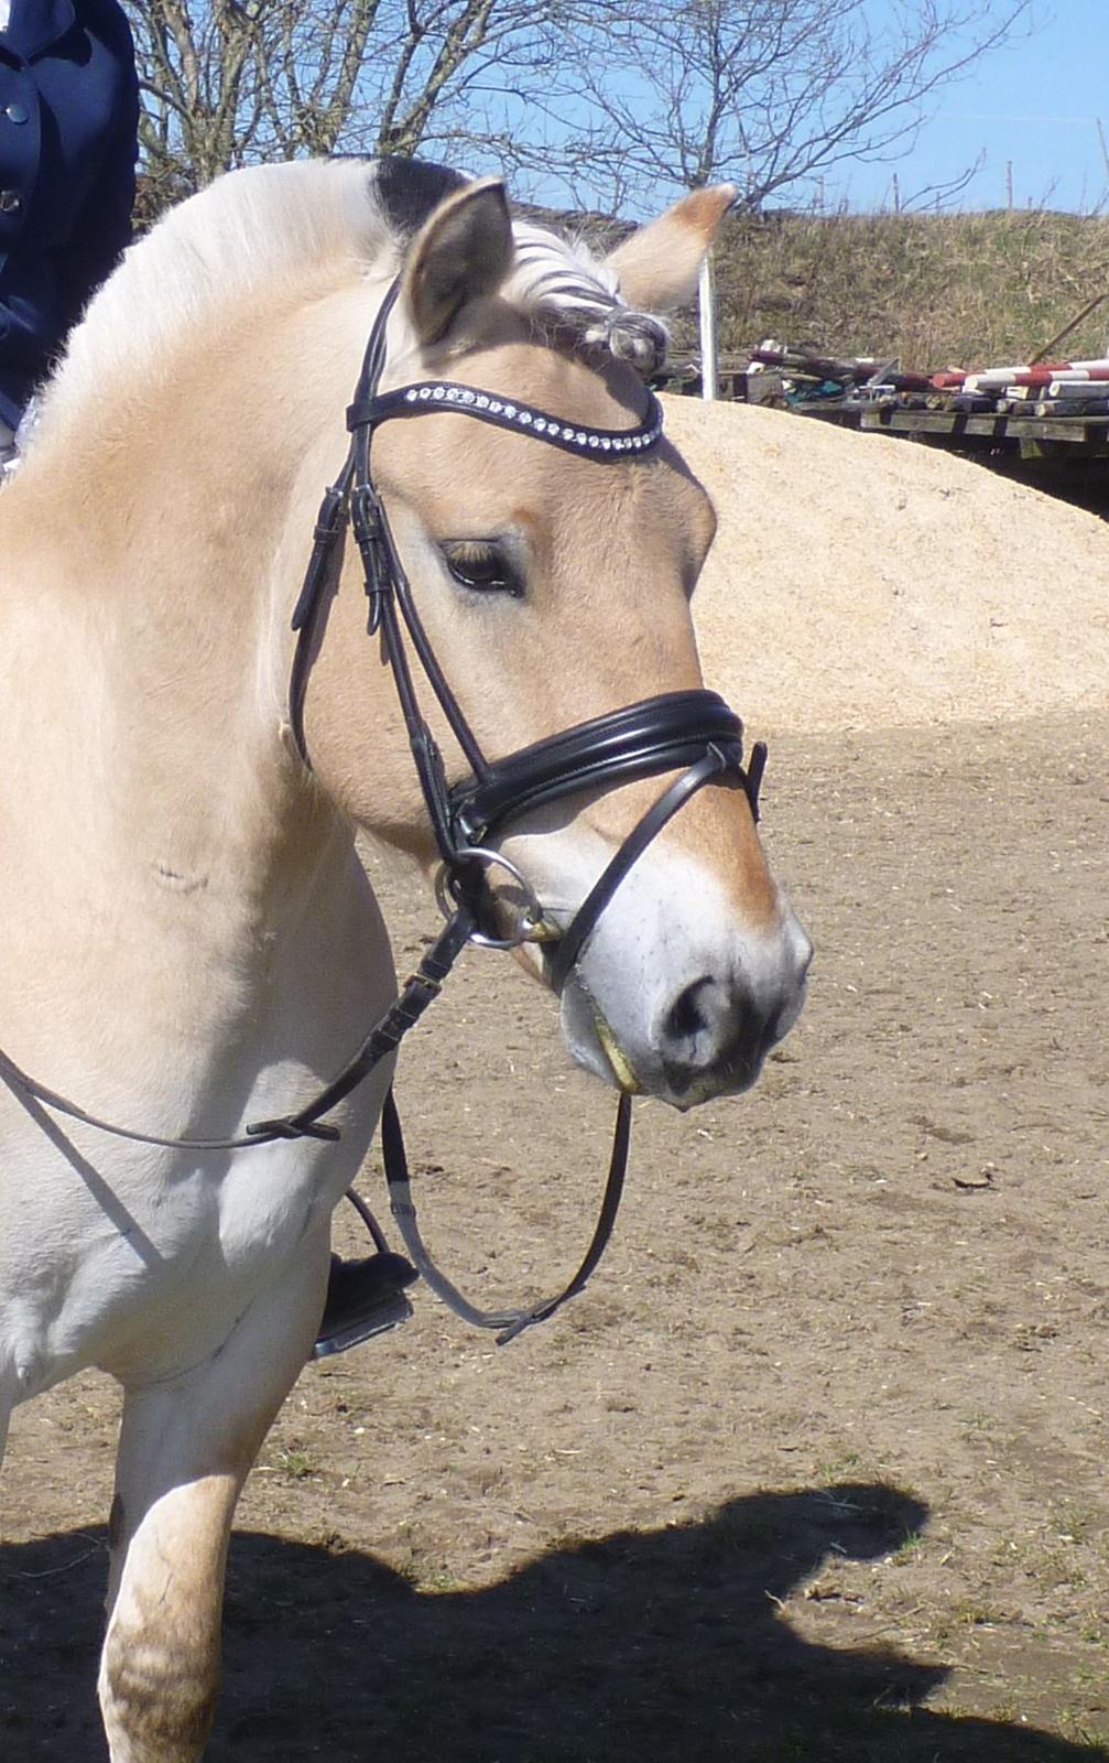
<path fill-rule="evenodd" d="M 379 386 L 386 365 L 386 326 L 398 286 L 398 280 L 393 282 L 370 331 L 354 402 L 347 409 L 351 446 L 337 483 L 321 504 L 312 557 L 293 614 L 298 642 L 289 684 L 291 726 L 296 746 L 310 765 L 303 732 L 303 698 L 314 626 L 323 584 L 349 510 L 368 598 L 367 629 L 370 636 L 381 633 L 443 860 L 441 899 L 453 901 L 458 910 L 471 915 L 471 940 L 502 948 L 541 941 L 548 978 L 561 991 L 619 883 L 666 822 L 703 785 L 732 779 L 746 792 L 751 813 L 758 820 L 758 786 L 767 749 L 763 742 L 756 742 L 744 769 L 742 723 L 725 700 L 714 691 L 670 691 L 577 723 L 506 758 L 490 762 L 485 756 L 416 610 L 388 513 L 370 472 L 374 434 L 384 421 L 455 413 L 605 465 L 654 453 L 663 435 L 663 413 L 649 391 L 647 411 L 636 428 L 584 428 L 532 405 L 451 381 L 420 381 L 383 393 Z M 443 755 L 418 705 L 406 633 L 471 767 L 469 776 L 453 785 L 446 779 Z M 568 926 L 552 922 L 527 880 L 490 846 L 490 841 L 513 822 L 548 802 L 674 770 L 681 770 L 681 776 L 626 836 Z M 508 871 L 527 901 L 510 936 L 494 936 L 488 931 L 490 869 Z"/>

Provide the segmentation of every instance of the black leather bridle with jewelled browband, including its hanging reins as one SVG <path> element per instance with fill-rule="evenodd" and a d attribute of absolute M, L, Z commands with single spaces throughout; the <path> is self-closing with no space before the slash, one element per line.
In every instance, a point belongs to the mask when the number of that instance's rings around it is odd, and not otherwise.
<path fill-rule="evenodd" d="M 580 427 L 532 405 L 451 381 L 420 381 L 381 391 L 386 365 L 386 326 L 398 287 L 400 280 L 395 280 L 370 330 L 354 400 L 347 409 L 351 434 L 347 457 L 339 478 L 324 492 L 316 520 L 312 554 L 293 612 L 296 647 L 289 677 L 289 723 L 296 748 L 310 769 L 303 728 L 305 693 L 312 672 L 324 584 L 331 578 L 339 547 L 349 524 L 365 577 L 367 633 L 381 636 L 384 659 L 393 673 L 413 762 L 443 866 L 437 892 L 446 913 L 446 926 L 400 989 L 398 998 L 374 1023 L 342 1072 L 301 1109 L 275 1120 L 254 1121 L 242 1137 L 175 1139 L 116 1127 L 81 1109 L 58 1091 L 48 1090 L 0 1051 L 0 1077 L 25 1100 L 44 1104 L 115 1137 L 196 1151 L 247 1149 L 256 1144 L 272 1144 L 277 1139 L 339 1139 L 339 1128 L 324 1116 L 376 1065 L 395 1053 L 402 1037 L 439 994 L 443 980 L 467 943 L 494 948 L 517 948 L 525 941 L 540 943 L 547 977 L 552 987 L 561 991 L 631 866 L 698 790 L 712 781 L 732 781 L 746 792 L 751 813 L 758 820 L 758 786 L 767 749 L 763 742 L 756 742 L 744 767 L 742 723 L 714 691 L 661 693 L 626 709 L 577 723 L 557 735 L 520 748 L 506 758 L 490 762 L 485 756 L 420 619 L 407 573 L 393 541 L 388 513 L 370 471 L 374 434 L 384 421 L 414 420 L 427 413 L 455 413 L 603 465 L 649 457 L 659 444 L 663 416 L 651 391 L 647 391 L 645 416 L 635 428 L 628 430 Z M 409 665 L 409 643 L 469 765 L 469 774 L 453 785 L 448 783 L 443 755 L 420 710 Z M 626 836 L 566 926 L 552 922 L 527 878 L 490 843 L 515 820 L 548 802 L 674 770 L 679 776 Z M 522 892 L 524 906 L 510 934 L 495 934 L 492 929 L 490 869 L 508 873 Z M 499 1342 L 511 1340 L 580 1292 L 612 1234 L 628 1162 L 629 1097 L 635 1079 L 619 1061 L 619 1049 L 612 1047 L 612 1037 L 605 1035 L 601 1019 L 598 1019 L 598 1035 L 621 1084 L 614 1151 L 599 1218 L 585 1257 L 562 1292 L 525 1310 L 478 1310 L 430 1261 L 416 1225 L 404 1137 L 391 1090 L 386 1097 L 381 1121 L 383 1153 L 391 1211 L 406 1246 L 432 1291 L 465 1320 L 480 1328 L 497 1329 Z M 376 1227 L 374 1234 L 379 1239 Z"/>

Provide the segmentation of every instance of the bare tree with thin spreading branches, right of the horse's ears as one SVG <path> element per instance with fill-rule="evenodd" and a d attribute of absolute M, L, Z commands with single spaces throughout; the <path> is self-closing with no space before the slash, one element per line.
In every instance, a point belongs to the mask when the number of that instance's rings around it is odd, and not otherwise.
<path fill-rule="evenodd" d="M 730 180 L 746 206 L 845 159 L 912 146 L 942 86 L 1033 0 L 624 0 L 578 12 L 589 111 L 568 148 L 624 199 Z"/>

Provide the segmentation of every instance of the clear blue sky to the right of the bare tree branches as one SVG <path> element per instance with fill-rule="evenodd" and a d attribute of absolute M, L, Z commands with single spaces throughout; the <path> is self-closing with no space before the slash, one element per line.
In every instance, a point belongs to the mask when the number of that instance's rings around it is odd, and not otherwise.
<path fill-rule="evenodd" d="M 1109 210 L 1109 0 L 1053 0 L 1037 7 L 1028 37 L 994 49 L 973 78 L 947 86 L 915 148 L 897 164 L 836 167 L 825 201 L 892 206 L 903 197 L 984 166 L 957 197 L 961 208 L 1003 208 L 1007 166 L 1017 206 Z M 1105 150 L 1098 139 L 1098 120 Z"/>

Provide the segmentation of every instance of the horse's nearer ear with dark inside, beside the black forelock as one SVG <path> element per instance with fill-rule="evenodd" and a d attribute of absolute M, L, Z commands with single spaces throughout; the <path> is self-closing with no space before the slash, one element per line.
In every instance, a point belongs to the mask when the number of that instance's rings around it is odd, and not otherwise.
<path fill-rule="evenodd" d="M 404 266 L 404 301 L 420 342 L 439 342 L 471 300 L 495 293 L 511 257 L 511 220 L 499 178 L 467 183 L 439 203 Z"/>

